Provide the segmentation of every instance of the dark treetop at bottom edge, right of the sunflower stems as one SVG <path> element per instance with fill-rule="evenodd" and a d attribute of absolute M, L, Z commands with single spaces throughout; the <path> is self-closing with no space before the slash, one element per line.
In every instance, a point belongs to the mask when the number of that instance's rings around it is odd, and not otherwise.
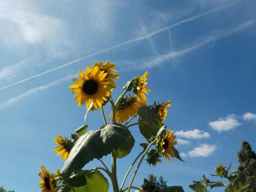
<path fill-rule="evenodd" d="M 164 187 L 167 187 L 166 183 L 167 181 L 164 181 L 162 176 L 157 181 L 153 174 L 149 174 L 148 179 L 144 178 L 141 188 L 145 192 L 159 192 Z"/>

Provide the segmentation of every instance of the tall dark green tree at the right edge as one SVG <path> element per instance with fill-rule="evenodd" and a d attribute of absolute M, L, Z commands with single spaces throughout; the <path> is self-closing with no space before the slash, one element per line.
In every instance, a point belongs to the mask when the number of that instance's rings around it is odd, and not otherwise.
<path fill-rule="evenodd" d="M 237 153 L 240 165 L 237 168 L 238 176 L 234 183 L 243 185 L 249 183 L 245 192 L 256 192 L 256 154 L 248 142 L 242 142 L 242 149 Z"/>

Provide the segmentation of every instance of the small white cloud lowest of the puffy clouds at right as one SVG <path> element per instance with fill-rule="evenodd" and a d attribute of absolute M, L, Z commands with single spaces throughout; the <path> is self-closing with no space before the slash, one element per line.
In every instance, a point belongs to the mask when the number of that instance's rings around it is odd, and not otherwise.
<path fill-rule="evenodd" d="M 216 150 L 216 145 L 201 144 L 189 151 L 189 157 L 208 157 Z"/>

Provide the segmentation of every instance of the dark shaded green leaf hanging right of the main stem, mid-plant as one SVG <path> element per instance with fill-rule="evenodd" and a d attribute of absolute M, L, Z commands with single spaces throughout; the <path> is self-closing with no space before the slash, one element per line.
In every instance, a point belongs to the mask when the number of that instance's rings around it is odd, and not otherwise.
<path fill-rule="evenodd" d="M 141 106 L 138 110 L 138 114 L 139 121 L 146 122 L 149 125 L 139 125 L 141 134 L 146 139 L 156 136 L 163 124 L 159 116 L 156 114 L 155 109 L 151 106 Z"/>

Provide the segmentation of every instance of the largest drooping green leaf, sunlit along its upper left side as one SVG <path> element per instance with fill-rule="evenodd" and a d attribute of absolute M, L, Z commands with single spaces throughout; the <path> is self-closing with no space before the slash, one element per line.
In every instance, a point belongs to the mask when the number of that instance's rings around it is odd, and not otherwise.
<path fill-rule="evenodd" d="M 80 170 L 94 158 L 100 159 L 120 148 L 129 135 L 131 133 L 126 127 L 112 123 L 103 129 L 85 133 L 74 144 L 61 169 L 61 175 L 68 179 L 72 172 Z"/>

